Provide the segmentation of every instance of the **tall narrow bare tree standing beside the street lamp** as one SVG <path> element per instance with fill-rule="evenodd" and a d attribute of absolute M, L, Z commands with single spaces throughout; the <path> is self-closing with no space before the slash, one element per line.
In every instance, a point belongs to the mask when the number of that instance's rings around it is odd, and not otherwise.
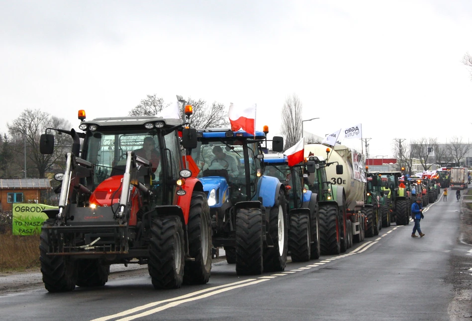
<path fill-rule="evenodd" d="M 285 99 L 282 108 L 281 126 L 281 132 L 285 136 L 285 150 L 300 140 L 302 110 L 302 103 L 295 93 Z"/>

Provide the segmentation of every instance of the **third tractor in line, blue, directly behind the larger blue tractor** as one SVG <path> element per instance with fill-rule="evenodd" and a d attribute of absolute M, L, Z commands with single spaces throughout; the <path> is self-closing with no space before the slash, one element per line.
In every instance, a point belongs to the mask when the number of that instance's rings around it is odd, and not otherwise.
<path fill-rule="evenodd" d="M 305 188 L 305 170 L 315 172 L 314 161 L 288 166 L 282 154 L 264 156 L 265 175 L 278 178 L 285 186 L 288 213 L 288 250 L 293 262 L 320 257 L 317 195 Z M 304 177 L 305 175 L 305 177 Z"/>

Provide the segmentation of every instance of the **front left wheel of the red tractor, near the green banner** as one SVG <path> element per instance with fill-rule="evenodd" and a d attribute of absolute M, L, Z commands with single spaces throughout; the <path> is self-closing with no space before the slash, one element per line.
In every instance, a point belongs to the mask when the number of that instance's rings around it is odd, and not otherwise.
<path fill-rule="evenodd" d="M 44 221 L 43 227 L 53 226 L 55 219 Z M 77 264 L 70 260 L 69 257 L 62 255 L 48 256 L 49 241 L 56 243 L 57 234 L 51 234 L 52 238 L 48 238 L 46 230 L 41 229 L 39 236 L 39 260 L 41 262 L 41 273 L 43 274 L 43 283 L 49 292 L 65 292 L 72 291 L 76 287 L 77 281 Z"/>

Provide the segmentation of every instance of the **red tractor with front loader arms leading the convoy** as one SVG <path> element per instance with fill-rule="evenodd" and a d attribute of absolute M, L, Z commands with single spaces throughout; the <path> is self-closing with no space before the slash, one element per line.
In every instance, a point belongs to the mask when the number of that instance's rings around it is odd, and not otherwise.
<path fill-rule="evenodd" d="M 46 155 L 54 150 L 51 131 L 73 139 L 58 175 L 59 208 L 44 211 L 39 248 L 45 288 L 103 286 L 110 264 L 133 263 L 148 265 L 155 289 L 207 283 L 208 203 L 179 139 L 184 147 L 196 146 L 196 130 L 180 119 L 153 116 L 89 121 L 81 110 L 79 119 L 82 132 L 48 128 L 40 138 Z M 152 161 L 138 156 L 146 141 L 154 143 Z"/>

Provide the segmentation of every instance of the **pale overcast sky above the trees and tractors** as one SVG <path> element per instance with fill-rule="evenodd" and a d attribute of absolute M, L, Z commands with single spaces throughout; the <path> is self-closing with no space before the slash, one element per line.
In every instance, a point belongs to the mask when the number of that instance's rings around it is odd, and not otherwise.
<path fill-rule="evenodd" d="M 362 123 L 370 155 L 394 138 L 472 142 L 472 1 L 0 1 L 0 132 L 25 108 L 126 116 L 147 94 L 257 103 L 280 131 Z M 346 141 L 361 148 L 361 142 Z"/>

